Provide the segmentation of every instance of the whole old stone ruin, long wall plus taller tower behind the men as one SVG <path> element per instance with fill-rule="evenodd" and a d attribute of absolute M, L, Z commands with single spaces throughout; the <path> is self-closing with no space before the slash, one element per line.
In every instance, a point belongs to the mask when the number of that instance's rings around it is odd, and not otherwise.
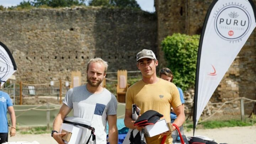
<path fill-rule="evenodd" d="M 85 82 L 86 63 L 94 57 L 106 60 L 108 71 L 137 70 L 136 54 L 145 48 L 156 52 L 159 68 L 165 66 L 160 48 L 162 39 L 175 32 L 200 34 L 211 2 L 155 0 L 156 14 L 100 7 L 0 11 L 0 41 L 14 56 L 17 81 L 35 84 L 57 79 L 71 81 L 71 71 L 80 70 Z M 211 102 L 238 97 L 256 99 L 255 41 L 254 31 Z M 245 104 L 246 113 L 253 104 Z M 221 113 L 238 114 L 239 107 L 239 102 L 235 102 L 224 106 Z"/>

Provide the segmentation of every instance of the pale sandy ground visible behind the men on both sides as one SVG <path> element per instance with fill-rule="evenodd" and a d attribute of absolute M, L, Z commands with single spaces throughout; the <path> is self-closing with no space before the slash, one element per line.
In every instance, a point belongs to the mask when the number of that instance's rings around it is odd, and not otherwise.
<path fill-rule="evenodd" d="M 186 132 L 185 130 L 185 135 L 191 137 L 193 130 L 190 132 Z M 195 135 L 215 139 L 218 144 L 256 144 L 256 126 L 197 129 Z M 40 144 L 57 144 L 50 134 L 16 134 L 15 137 L 9 137 L 9 142 L 33 142 L 35 140 Z"/>

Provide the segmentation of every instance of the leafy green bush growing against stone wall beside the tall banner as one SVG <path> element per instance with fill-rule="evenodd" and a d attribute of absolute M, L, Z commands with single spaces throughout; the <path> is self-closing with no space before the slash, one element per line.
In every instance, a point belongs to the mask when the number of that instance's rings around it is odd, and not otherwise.
<path fill-rule="evenodd" d="M 180 33 L 167 36 L 161 42 L 167 67 L 174 75 L 173 82 L 183 90 L 194 86 L 198 44 L 199 35 Z"/>

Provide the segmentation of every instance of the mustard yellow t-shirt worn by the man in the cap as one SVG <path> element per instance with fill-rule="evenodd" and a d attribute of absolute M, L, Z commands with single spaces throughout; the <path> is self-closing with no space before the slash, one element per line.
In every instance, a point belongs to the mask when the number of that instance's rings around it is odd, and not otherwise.
<path fill-rule="evenodd" d="M 181 105 L 177 87 L 166 80 L 159 79 L 154 84 L 146 84 L 142 80 L 130 86 L 126 92 L 126 109 L 132 110 L 135 103 L 140 108 L 140 114 L 154 110 L 164 115 L 166 122 L 170 122 L 170 108 Z M 147 144 L 161 144 L 162 136 L 146 137 Z M 172 144 L 171 135 L 165 144 Z"/>

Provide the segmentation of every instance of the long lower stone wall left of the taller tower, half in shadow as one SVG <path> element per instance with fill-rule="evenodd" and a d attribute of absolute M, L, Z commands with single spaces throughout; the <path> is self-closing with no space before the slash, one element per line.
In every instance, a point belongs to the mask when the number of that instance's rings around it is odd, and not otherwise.
<path fill-rule="evenodd" d="M 71 81 L 86 63 L 101 57 L 108 71 L 137 70 L 136 54 L 157 48 L 156 15 L 144 11 L 75 7 L 0 11 L 0 41 L 11 51 L 17 81 Z"/>

